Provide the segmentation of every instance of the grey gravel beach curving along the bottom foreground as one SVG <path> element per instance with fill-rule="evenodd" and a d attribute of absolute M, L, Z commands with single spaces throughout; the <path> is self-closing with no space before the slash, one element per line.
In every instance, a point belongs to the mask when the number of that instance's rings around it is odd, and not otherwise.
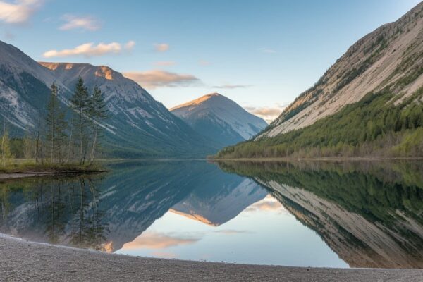
<path fill-rule="evenodd" d="M 109 255 L 0 235 L 0 281 L 423 281 L 422 269 L 324 269 Z"/>

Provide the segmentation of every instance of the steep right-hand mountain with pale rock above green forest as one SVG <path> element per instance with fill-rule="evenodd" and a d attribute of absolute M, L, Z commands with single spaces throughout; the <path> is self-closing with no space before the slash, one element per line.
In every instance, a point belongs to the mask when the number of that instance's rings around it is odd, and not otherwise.
<path fill-rule="evenodd" d="M 260 144 L 244 146 L 272 157 L 304 155 L 301 149 L 313 156 L 423 154 L 422 26 L 423 3 L 364 36 L 255 139 Z"/>

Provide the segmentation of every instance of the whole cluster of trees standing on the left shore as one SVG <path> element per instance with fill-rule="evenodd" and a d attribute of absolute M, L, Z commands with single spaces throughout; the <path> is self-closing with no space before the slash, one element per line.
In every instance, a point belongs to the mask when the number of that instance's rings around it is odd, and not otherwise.
<path fill-rule="evenodd" d="M 25 137 L 11 139 L 6 118 L 0 139 L 0 167 L 13 164 L 16 157 L 35 159 L 40 164 L 90 166 L 101 149 L 108 111 L 99 87 L 92 92 L 78 79 L 71 99 L 71 113 L 62 106 L 59 87 L 53 83 L 44 111 Z M 69 118 L 70 117 L 70 118 Z"/>

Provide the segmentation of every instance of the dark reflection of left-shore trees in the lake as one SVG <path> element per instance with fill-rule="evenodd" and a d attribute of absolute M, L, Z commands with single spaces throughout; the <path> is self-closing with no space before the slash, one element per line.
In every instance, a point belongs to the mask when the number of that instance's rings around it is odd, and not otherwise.
<path fill-rule="evenodd" d="M 0 231 L 53 244 L 104 250 L 108 233 L 95 176 L 0 183 Z M 98 177 L 97 177 L 98 180 Z"/>

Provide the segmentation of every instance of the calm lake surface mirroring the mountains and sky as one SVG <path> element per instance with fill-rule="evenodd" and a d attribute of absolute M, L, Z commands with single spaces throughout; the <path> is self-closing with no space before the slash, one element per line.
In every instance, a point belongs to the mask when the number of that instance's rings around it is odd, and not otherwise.
<path fill-rule="evenodd" d="M 120 254 L 423 268 L 420 162 L 128 161 L 0 182 L 0 233 Z"/>

